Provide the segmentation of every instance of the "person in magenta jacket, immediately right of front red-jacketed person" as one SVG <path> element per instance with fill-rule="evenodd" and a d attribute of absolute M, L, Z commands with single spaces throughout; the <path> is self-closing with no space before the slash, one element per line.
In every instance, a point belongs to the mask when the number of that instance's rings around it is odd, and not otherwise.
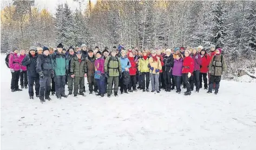
<path fill-rule="evenodd" d="M 194 90 L 195 84 L 195 92 L 199 92 L 200 89 L 200 65 L 202 64 L 201 54 L 199 54 L 194 48 L 191 54 L 191 57 L 194 59 L 194 72 L 191 78 L 191 91 Z"/>

